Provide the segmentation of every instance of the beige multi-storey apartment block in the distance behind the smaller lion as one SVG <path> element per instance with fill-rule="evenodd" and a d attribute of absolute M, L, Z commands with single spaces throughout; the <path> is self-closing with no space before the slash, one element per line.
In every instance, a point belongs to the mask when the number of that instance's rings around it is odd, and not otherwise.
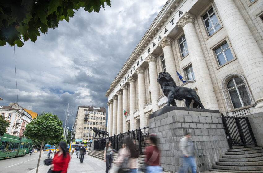
<path fill-rule="evenodd" d="M 96 106 L 79 106 L 74 124 L 76 139 L 92 139 L 93 127 L 105 130 L 106 109 Z"/>

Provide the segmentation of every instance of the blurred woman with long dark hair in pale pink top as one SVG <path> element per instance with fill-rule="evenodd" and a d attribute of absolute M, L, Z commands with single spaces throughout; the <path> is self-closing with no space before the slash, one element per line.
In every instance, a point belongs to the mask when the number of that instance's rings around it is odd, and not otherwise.
<path fill-rule="evenodd" d="M 124 138 L 124 142 L 127 147 L 118 151 L 119 156 L 116 160 L 116 164 L 119 166 L 118 173 L 137 173 L 139 152 L 136 151 L 136 147 L 129 136 Z"/>

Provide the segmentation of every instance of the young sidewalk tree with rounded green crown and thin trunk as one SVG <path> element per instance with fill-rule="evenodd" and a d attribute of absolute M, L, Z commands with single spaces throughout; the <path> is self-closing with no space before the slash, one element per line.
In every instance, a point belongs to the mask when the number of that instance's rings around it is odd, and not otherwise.
<path fill-rule="evenodd" d="M 52 113 L 42 112 L 41 115 L 37 116 L 26 125 L 26 129 L 23 132 L 24 136 L 30 139 L 42 140 L 39 158 L 37 162 L 37 171 L 44 141 L 60 139 L 62 133 L 62 121 L 58 118 L 57 115 L 54 115 Z"/>

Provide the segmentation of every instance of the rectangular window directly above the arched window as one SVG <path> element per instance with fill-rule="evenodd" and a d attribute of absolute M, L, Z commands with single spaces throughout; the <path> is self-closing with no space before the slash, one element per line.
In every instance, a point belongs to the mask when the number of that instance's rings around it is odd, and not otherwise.
<path fill-rule="evenodd" d="M 219 48 L 215 49 L 218 64 L 225 64 L 227 61 L 233 59 L 233 55 L 227 43 L 222 44 Z"/>

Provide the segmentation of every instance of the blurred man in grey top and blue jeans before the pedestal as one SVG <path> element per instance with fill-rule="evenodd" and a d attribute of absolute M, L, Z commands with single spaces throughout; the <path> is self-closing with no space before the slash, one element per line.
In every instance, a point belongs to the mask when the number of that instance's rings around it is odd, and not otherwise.
<path fill-rule="evenodd" d="M 183 154 L 183 168 L 181 172 L 186 172 L 190 166 L 192 173 L 196 173 L 196 159 L 194 153 L 194 144 L 191 140 L 191 133 L 186 133 L 185 137 L 180 139 L 180 149 Z"/>

